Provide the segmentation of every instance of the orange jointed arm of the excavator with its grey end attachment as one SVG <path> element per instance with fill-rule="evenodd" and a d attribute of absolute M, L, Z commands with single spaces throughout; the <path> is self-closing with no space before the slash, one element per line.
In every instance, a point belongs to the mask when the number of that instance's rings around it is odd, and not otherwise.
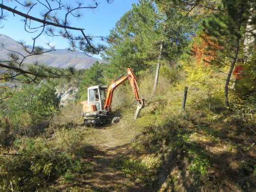
<path fill-rule="evenodd" d="M 126 72 L 127 72 L 127 75 L 123 76 Z M 140 89 L 139 89 L 136 77 L 130 68 L 128 68 L 127 71 L 125 71 L 122 75 L 120 75 L 118 78 L 116 78 L 115 80 L 113 80 L 111 82 L 110 86 L 108 87 L 108 89 L 106 91 L 104 109 L 108 112 L 110 111 L 110 105 L 112 103 L 114 90 L 126 80 L 130 81 L 132 89 L 133 89 L 133 93 L 135 94 L 135 98 L 137 100 L 137 110 L 136 110 L 136 113 L 134 116 L 134 119 L 136 119 L 140 113 L 140 110 L 144 107 L 144 99 L 140 93 Z M 139 96 L 139 94 L 140 94 L 140 96 Z"/>

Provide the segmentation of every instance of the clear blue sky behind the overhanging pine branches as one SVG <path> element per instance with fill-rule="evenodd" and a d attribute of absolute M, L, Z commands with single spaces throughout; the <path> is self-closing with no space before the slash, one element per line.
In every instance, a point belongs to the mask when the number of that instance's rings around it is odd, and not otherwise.
<path fill-rule="evenodd" d="M 37 3 L 34 6 L 32 16 L 39 17 L 38 13 L 44 9 L 38 4 L 37 1 L 33 0 L 34 3 Z M 44 1 L 41 1 L 44 2 Z M 66 2 L 71 2 L 68 0 L 61 1 L 63 4 Z M 75 1 L 72 1 L 75 2 Z M 92 0 L 85 0 L 84 6 L 87 6 L 89 3 L 92 3 Z M 110 30 L 115 27 L 116 22 L 121 18 L 121 16 L 132 9 L 133 3 L 138 3 L 138 0 L 114 0 L 113 3 L 108 4 L 106 0 L 100 0 L 98 2 L 98 8 L 93 10 L 84 9 L 83 17 L 81 19 L 72 19 L 72 27 L 85 29 L 84 33 L 90 34 L 92 36 L 108 36 Z M 73 3 L 72 3 L 73 4 Z M 16 4 L 12 2 L 5 2 L 4 5 L 14 8 Z M 26 13 L 27 11 L 20 6 L 16 8 L 18 11 Z M 0 29 L 0 34 L 7 35 L 14 40 L 25 40 L 27 45 L 32 45 L 32 37 L 37 36 L 38 33 L 28 33 L 24 30 L 24 23 L 20 20 L 22 17 L 15 15 L 11 12 L 5 11 L 8 17 L 7 20 L 2 20 Z M 46 42 L 51 41 L 52 45 L 55 45 L 55 49 L 66 49 L 68 47 L 68 41 L 62 37 L 48 37 L 46 34 L 41 35 L 36 41 L 36 45 L 43 46 L 47 48 Z M 100 56 L 94 56 L 100 58 Z"/>

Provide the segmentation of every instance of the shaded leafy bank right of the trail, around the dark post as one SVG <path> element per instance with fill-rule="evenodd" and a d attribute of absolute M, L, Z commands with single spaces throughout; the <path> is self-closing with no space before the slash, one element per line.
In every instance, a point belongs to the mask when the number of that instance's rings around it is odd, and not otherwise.
<path fill-rule="evenodd" d="M 136 122 L 137 155 L 114 165 L 155 191 L 256 191 L 255 106 L 236 98 L 228 110 L 195 94 L 184 111 L 182 91 L 152 100 Z"/>

